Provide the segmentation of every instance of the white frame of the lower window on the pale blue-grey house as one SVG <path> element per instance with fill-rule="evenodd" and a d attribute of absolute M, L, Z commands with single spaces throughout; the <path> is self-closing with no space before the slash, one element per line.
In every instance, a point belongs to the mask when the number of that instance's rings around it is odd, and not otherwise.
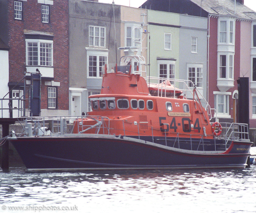
<path fill-rule="evenodd" d="M 195 69 L 195 76 L 189 76 L 190 68 L 193 70 Z M 201 72 L 198 74 L 198 69 L 201 70 Z M 201 76 L 200 76 L 201 74 Z M 199 75 L 199 76 L 198 76 Z M 195 78 L 195 82 L 191 80 L 191 78 Z M 197 85 L 197 88 L 202 89 L 203 88 L 203 64 L 199 63 L 188 63 L 187 64 L 187 79 L 191 80 L 195 85 Z M 201 82 L 199 82 L 199 79 L 201 79 Z M 198 85 L 201 83 L 201 85 Z M 189 82 L 189 87 L 192 87 L 191 83 Z"/>

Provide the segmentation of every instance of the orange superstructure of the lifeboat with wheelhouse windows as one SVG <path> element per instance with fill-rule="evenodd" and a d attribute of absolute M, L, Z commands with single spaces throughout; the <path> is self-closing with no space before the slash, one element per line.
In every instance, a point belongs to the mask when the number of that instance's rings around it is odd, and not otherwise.
<path fill-rule="evenodd" d="M 111 134 L 170 137 L 179 134 L 180 137 L 213 138 L 209 116 L 197 97 L 196 89 L 192 91 L 193 100 L 185 99 L 182 90 L 174 85 L 167 87 L 167 80 L 159 78 L 162 83 L 154 84 L 154 96 L 148 86 L 152 89 L 153 84 L 148 84 L 139 73 L 132 72 L 131 67 L 127 68 L 124 72 L 116 69 L 108 73 L 105 70 L 101 94 L 90 96 L 92 112 L 88 115 L 107 117 L 104 122 L 110 125 Z M 96 121 L 86 118 L 83 124 L 80 123 L 79 130 L 93 123 Z M 95 133 L 95 129 L 86 131 L 89 132 Z M 98 133 L 103 134 L 103 128 Z"/>

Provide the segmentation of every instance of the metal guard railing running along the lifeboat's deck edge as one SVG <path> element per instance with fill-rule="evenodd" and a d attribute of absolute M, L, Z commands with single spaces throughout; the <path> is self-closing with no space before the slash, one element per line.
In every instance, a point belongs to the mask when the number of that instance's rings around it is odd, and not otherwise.
<path fill-rule="evenodd" d="M 85 120 L 90 120 L 90 125 L 85 125 Z M 120 122 L 119 125 L 115 125 L 115 128 L 110 126 L 111 119 L 104 116 L 55 116 L 55 117 L 22 117 L 19 118 L 21 124 L 20 131 L 15 133 L 16 136 L 32 137 L 37 135 L 47 135 L 44 128 L 49 128 L 51 133 L 49 136 L 61 136 L 65 134 L 83 133 L 113 135 L 114 133 L 123 135 L 124 137 L 132 137 L 142 140 L 149 140 L 152 143 L 161 143 L 169 147 L 180 149 L 181 143 L 188 145 L 187 149 L 191 151 L 207 151 L 208 146 L 211 145 L 212 151 L 224 151 L 228 148 L 232 141 L 239 141 L 240 139 L 249 139 L 248 125 L 239 123 L 221 123 L 222 134 L 214 138 L 214 144 L 209 144 L 209 139 L 205 138 L 205 135 L 190 134 L 190 133 L 177 133 L 176 137 L 170 137 L 170 134 L 166 131 L 162 132 L 160 128 L 154 128 L 153 126 L 147 126 L 147 133 L 142 125 L 144 123 L 129 122 L 125 119 L 115 120 Z M 127 124 L 135 124 L 137 128 L 125 128 Z M 95 131 L 94 131 L 95 130 Z M 161 131 L 164 137 L 156 134 L 156 131 Z M 20 134 L 18 133 L 20 132 Z M 168 136 L 169 135 L 169 136 Z M 173 134 L 174 135 L 174 134 Z M 197 136 L 195 138 L 195 136 Z M 208 135 L 210 136 L 210 135 Z M 185 138 L 185 139 L 184 139 Z M 224 139 L 224 143 L 221 142 Z"/>

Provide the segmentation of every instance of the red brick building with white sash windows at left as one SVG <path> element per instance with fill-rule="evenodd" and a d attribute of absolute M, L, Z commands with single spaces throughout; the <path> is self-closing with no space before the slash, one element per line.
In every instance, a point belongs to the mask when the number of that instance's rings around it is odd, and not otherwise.
<path fill-rule="evenodd" d="M 40 115 L 67 115 L 69 110 L 69 14 L 68 0 L 7 0 L 9 37 L 10 98 L 24 94 L 31 85 L 31 73 L 41 73 Z M 39 84 L 38 84 L 39 85 Z M 27 88 L 27 87 L 26 87 Z M 26 108 L 29 90 L 25 89 Z M 23 101 L 12 101 L 13 113 L 21 116 L 15 107 Z M 18 105 L 18 106 L 17 106 Z M 38 108 L 38 106 L 36 106 Z M 29 115 L 29 113 L 26 113 Z"/>

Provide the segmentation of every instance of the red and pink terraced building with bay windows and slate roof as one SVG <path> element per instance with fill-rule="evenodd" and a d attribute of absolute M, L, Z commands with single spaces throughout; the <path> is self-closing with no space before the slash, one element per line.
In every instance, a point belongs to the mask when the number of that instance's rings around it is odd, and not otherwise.
<path fill-rule="evenodd" d="M 255 11 L 246 7 L 243 0 L 148 0 L 142 7 L 208 18 L 208 63 L 203 72 L 207 76 L 208 102 L 216 108 L 212 113 L 221 121 L 236 121 L 236 80 L 248 77 L 250 127 L 255 128 Z"/>

